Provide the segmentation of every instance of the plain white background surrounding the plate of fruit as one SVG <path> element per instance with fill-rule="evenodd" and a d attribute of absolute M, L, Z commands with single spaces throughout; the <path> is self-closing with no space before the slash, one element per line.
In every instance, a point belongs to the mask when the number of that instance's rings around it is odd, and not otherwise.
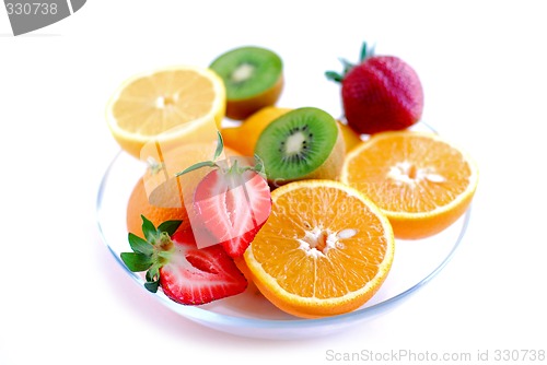
<path fill-rule="evenodd" d="M 547 350 L 547 52 L 539 1 L 90 0 L 13 37 L 0 10 L 0 364 L 333 363 L 326 353 Z M 133 285 L 102 243 L 100 179 L 118 151 L 107 98 L 151 68 L 234 46 L 279 52 L 280 105 L 340 113 L 325 70 L 362 40 L 419 73 L 423 118 L 478 162 L 454 259 L 385 316 L 299 341 L 195 325 Z M 522 363 L 522 362 L 520 362 Z M 537 363 L 537 362 L 536 362 Z M 545 363 L 545 362 L 544 362 Z"/>

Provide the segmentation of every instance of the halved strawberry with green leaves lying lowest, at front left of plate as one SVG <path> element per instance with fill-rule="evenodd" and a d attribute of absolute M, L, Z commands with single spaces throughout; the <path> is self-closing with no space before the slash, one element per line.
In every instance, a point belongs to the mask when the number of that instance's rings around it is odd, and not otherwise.
<path fill-rule="evenodd" d="M 247 281 L 220 246 L 198 249 L 191 229 L 177 231 L 181 221 L 158 228 L 142 216 L 146 239 L 129 234 L 132 252 L 120 258 L 133 272 L 147 271 L 144 286 L 155 293 L 161 286 L 172 301 L 199 305 L 245 291 Z M 175 233 L 176 232 L 176 233 Z"/>

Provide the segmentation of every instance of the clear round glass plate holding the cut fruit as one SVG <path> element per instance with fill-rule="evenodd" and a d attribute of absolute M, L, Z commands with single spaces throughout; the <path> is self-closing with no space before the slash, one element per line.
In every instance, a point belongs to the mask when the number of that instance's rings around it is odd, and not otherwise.
<path fill-rule="evenodd" d="M 127 240 L 126 207 L 136 181 L 144 174 L 146 166 L 119 152 L 108 166 L 97 196 L 97 221 L 104 243 L 119 263 L 142 290 L 154 296 L 173 311 L 209 328 L 237 335 L 291 339 L 333 333 L 370 318 L 383 315 L 400 304 L 449 262 L 458 247 L 470 217 L 470 208 L 442 233 L 420 240 L 397 240 L 395 258 L 389 274 L 363 307 L 349 314 L 321 318 L 300 319 L 277 309 L 254 285 L 246 292 L 201 306 L 184 306 L 168 299 L 161 291 L 148 292 L 140 273 L 130 272 L 119 254 L 130 251 Z"/>

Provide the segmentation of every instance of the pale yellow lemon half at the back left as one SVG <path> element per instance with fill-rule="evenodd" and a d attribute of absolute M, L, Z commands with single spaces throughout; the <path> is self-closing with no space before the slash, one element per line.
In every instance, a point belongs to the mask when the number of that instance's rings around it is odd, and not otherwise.
<path fill-rule="evenodd" d="M 142 148 L 156 139 L 176 143 L 191 133 L 195 141 L 210 140 L 206 134 L 211 125 L 220 128 L 224 111 L 225 90 L 216 72 L 176 66 L 123 83 L 108 101 L 106 120 L 121 149 L 140 158 Z"/>

